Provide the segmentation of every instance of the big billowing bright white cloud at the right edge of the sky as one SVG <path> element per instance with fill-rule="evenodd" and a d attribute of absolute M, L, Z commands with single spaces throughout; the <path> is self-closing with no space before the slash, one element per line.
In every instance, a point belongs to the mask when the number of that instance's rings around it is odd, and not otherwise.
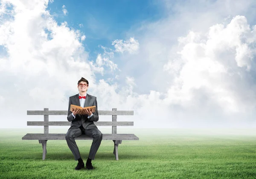
<path fill-rule="evenodd" d="M 246 78 L 255 66 L 255 33 L 244 16 L 236 16 L 226 27 L 211 26 L 206 38 L 194 32 L 180 38 L 180 58 L 164 66 L 175 78 L 165 100 L 185 109 L 218 106 L 226 114 L 252 113 L 256 84 Z"/>

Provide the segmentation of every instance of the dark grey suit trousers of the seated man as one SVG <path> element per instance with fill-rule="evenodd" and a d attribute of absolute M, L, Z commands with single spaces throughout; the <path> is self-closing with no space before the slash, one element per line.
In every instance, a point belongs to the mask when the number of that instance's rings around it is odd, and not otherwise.
<path fill-rule="evenodd" d="M 89 129 L 89 130 L 84 129 L 84 127 L 82 126 L 80 128 L 70 128 L 66 133 L 66 141 L 67 141 L 68 147 L 70 148 L 71 152 L 75 157 L 75 160 L 78 160 L 79 158 L 81 158 L 79 149 L 75 141 L 75 138 L 80 136 L 81 134 L 85 134 L 93 138 L 93 142 L 90 147 L 89 158 L 94 160 L 96 152 L 99 149 L 99 145 L 102 141 L 102 133 L 97 128 Z"/>

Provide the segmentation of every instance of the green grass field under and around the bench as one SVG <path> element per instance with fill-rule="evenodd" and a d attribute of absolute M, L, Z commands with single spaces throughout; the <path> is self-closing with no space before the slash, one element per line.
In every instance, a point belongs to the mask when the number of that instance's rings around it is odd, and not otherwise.
<path fill-rule="evenodd" d="M 64 140 L 47 141 L 46 160 L 36 140 L 21 140 L 41 129 L 0 129 L 0 178 L 201 178 L 256 179 L 256 130 L 123 129 L 139 141 L 102 141 L 93 170 L 74 170 L 77 162 Z M 65 133 L 66 129 L 50 129 Z M 101 130 L 102 133 L 106 133 Z M 106 130 L 110 133 L 111 130 Z M 40 132 L 39 132 L 40 133 Z M 92 141 L 77 141 L 87 159 Z"/>

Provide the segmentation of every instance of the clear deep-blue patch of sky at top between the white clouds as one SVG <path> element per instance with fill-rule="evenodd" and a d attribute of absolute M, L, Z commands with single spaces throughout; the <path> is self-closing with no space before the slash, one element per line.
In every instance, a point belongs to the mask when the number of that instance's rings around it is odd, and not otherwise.
<path fill-rule="evenodd" d="M 62 13 L 63 5 L 67 15 Z M 90 60 L 95 60 L 102 50 L 99 46 L 110 48 L 113 40 L 129 38 L 126 32 L 131 28 L 163 18 L 162 6 L 155 0 L 55 0 L 47 9 L 51 14 L 57 14 L 55 20 L 58 24 L 66 21 L 70 27 L 86 35 L 84 47 L 90 53 Z"/>

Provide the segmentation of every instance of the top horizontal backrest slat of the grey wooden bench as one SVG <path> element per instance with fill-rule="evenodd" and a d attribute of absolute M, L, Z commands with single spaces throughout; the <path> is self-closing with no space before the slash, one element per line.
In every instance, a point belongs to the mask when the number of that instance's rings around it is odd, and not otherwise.
<path fill-rule="evenodd" d="M 99 115 L 134 115 L 134 111 L 102 111 L 99 110 Z M 27 115 L 67 115 L 67 111 L 27 111 Z"/>

